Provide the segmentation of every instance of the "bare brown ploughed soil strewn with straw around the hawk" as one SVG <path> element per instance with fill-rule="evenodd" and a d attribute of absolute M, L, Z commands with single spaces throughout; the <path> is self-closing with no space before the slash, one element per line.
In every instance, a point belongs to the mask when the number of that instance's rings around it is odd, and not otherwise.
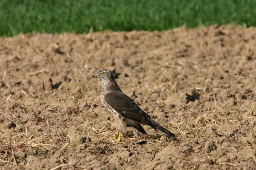
<path fill-rule="evenodd" d="M 180 143 L 150 127 L 113 142 L 103 68 Z M 2 38 L 0 93 L 4 170 L 256 168 L 256 28 Z"/>

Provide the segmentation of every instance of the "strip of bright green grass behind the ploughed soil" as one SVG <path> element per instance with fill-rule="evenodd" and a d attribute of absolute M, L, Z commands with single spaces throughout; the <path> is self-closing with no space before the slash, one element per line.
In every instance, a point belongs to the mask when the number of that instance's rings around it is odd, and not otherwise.
<path fill-rule="evenodd" d="M 0 36 L 166 30 L 186 24 L 256 26 L 256 0 L 0 0 Z"/>

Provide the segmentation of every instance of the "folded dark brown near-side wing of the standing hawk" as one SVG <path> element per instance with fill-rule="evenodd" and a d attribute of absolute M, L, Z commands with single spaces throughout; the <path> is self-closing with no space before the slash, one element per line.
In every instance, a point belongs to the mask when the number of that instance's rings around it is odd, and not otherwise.
<path fill-rule="evenodd" d="M 111 93 L 106 94 L 105 100 L 122 116 L 137 121 L 143 121 L 143 119 L 150 117 L 147 113 L 141 110 L 130 97 L 122 92 L 112 91 Z"/>

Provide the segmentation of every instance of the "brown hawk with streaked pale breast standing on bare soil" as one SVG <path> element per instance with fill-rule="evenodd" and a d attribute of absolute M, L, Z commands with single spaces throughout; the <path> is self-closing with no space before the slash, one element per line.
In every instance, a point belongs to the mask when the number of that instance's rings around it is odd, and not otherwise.
<path fill-rule="evenodd" d="M 117 130 L 114 137 L 115 142 L 121 142 L 121 133 L 127 135 L 126 127 L 134 127 L 140 133 L 146 134 L 141 125 L 149 125 L 155 130 L 158 129 L 166 133 L 168 137 L 176 139 L 173 133 L 151 119 L 130 97 L 121 91 L 112 71 L 101 70 L 95 78 L 102 80 L 101 101 L 113 118 Z"/>

